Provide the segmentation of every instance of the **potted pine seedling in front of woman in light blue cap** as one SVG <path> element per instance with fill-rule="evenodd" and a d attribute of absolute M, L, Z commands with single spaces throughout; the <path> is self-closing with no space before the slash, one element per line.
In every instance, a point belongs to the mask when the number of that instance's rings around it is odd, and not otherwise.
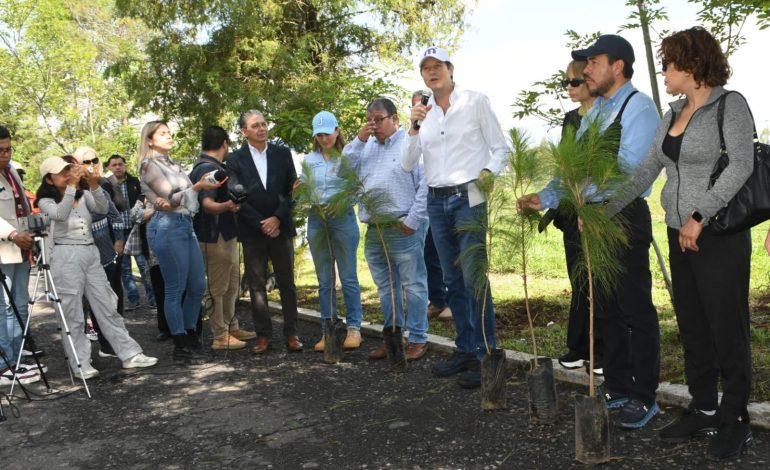
<path fill-rule="evenodd" d="M 323 321 L 324 338 L 324 356 L 323 360 L 327 364 L 336 364 L 342 360 L 343 344 L 347 336 L 347 326 L 345 322 L 335 315 L 335 279 L 336 279 L 336 253 L 339 250 L 355 249 L 355 247 L 335 246 L 332 240 L 331 221 L 334 218 L 343 216 L 350 207 L 355 204 L 356 191 L 359 183 L 355 172 L 350 168 L 347 159 L 342 158 L 339 152 L 331 155 L 332 159 L 338 161 L 339 167 L 337 175 L 342 179 L 342 186 L 338 188 L 328 201 L 322 203 L 321 189 L 319 182 L 313 177 L 313 172 L 302 162 L 302 184 L 294 190 L 295 211 L 303 214 L 313 214 L 321 221 L 322 230 L 316 234 L 313 239 L 308 235 L 308 242 L 311 252 L 316 253 L 324 251 L 329 257 L 329 275 L 331 282 L 329 284 L 329 318 Z M 315 247 L 315 248 L 313 248 Z"/>

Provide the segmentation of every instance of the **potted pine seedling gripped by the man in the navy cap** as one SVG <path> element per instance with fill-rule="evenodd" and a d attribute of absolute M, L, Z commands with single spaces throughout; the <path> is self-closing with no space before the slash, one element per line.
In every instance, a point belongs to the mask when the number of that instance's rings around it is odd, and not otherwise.
<path fill-rule="evenodd" d="M 511 193 L 518 200 L 530 194 L 532 186 L 541 181 L 545 175 L 544 165 L 537 148 L 531 148 L 526 134 L 514 128 L 510 131 L 511 153 L 508 167 L 511 169 L 509 178 Z M 527 388 L 529 391 L 529 416 L 533 422 L 552 423 L 558 413 L 556 401 L 556 386 L 553 377 L 553 362 L 549 357 L 540 357 L 537 352 L 537 337 L 532 310 L 529 305 L 529 285 L 527 277 L 527 262 L 529 245 L 540 221 L 540 213 L 526 208 L 517 214 L 513 224 L 513 242 L 519 254 L 519 272 L 524 288 L 524 309 L 527 312 L 530 340 L 532 342 L 533 359 L 529 361 L 527 371 Z"/>

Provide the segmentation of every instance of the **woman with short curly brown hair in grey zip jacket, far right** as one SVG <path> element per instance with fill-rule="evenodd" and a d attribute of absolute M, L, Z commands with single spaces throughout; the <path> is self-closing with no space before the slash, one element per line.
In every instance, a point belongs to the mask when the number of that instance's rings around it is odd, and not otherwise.
<path fill-rule="evenodd" d="M 708 456 L 738 456 L 751 443 L 749 277 L 751 233 L 715 235 L 710 219 L 727 205 L 753 168 L 753 122 L 746 101 L 723 88 L 730 77 L 719 42 L 701 27 L 663 39 L 658 56 L 666 92 L 681 96 L 660 122 L 647 158 L 608 211 L 620 210 L 666 169 L 661 205 L 688 410 L 660 431 L 666 442 L 715 435 Z M 719 160 L 718 116 L 730 164 L 711 184 Z M 722 400 L 718 384 L 722 384 Z"/>

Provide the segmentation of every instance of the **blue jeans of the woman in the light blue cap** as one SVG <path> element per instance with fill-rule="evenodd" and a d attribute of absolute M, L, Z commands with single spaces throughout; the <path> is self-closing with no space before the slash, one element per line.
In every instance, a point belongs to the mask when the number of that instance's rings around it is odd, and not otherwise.
<path fill-rule="evenodd" d="M 326 225 L 324 225 L 326 224 Z M 307 237 L 318 277 L 318 301 L 321 319 L 337 318 L 337 292 L 335 289 L 334 264 L 340 270 L 342 296 L 345 299 L 348 328 L 360 329 L 361 286 L 358 284 L 356 252 L 360 239 L 356 214 L 351 207 L 341 217 L 323 220 L 310 213 L 307 219 Z"/>

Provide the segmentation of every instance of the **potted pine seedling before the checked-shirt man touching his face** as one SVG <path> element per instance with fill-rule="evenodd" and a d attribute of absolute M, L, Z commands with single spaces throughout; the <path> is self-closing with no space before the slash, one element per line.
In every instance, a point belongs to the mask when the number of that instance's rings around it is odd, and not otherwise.
<path fill-rule="evenodd" d="M 385 343 L 388 365 L 393 372 L 406 372 L 407 361 L 406 352 L 404 351 L 404 332 L 396 325 L 396 286 L 393 277 L 393 264 L 390 259 L 390 249 L 384 233 L 384 229 L 398 223 L 398 219 L 387 211 L 387 208 L 392 207 L 387 191 L 379 188 L 364 191 L 363 188 L 364 184 L 363 181 L 361 181 L 358 203 L 361 204 L 369 214 L 369 230 L 375 230 L 377 240 L 382 247 L 385 262 L 388 267 L 388 295 L 390 296 L 391 326 L 385 326 L 382 329 L 382 339 Z M 388 313 L 383 312 L 383 314 L 387 315 Z"/>

